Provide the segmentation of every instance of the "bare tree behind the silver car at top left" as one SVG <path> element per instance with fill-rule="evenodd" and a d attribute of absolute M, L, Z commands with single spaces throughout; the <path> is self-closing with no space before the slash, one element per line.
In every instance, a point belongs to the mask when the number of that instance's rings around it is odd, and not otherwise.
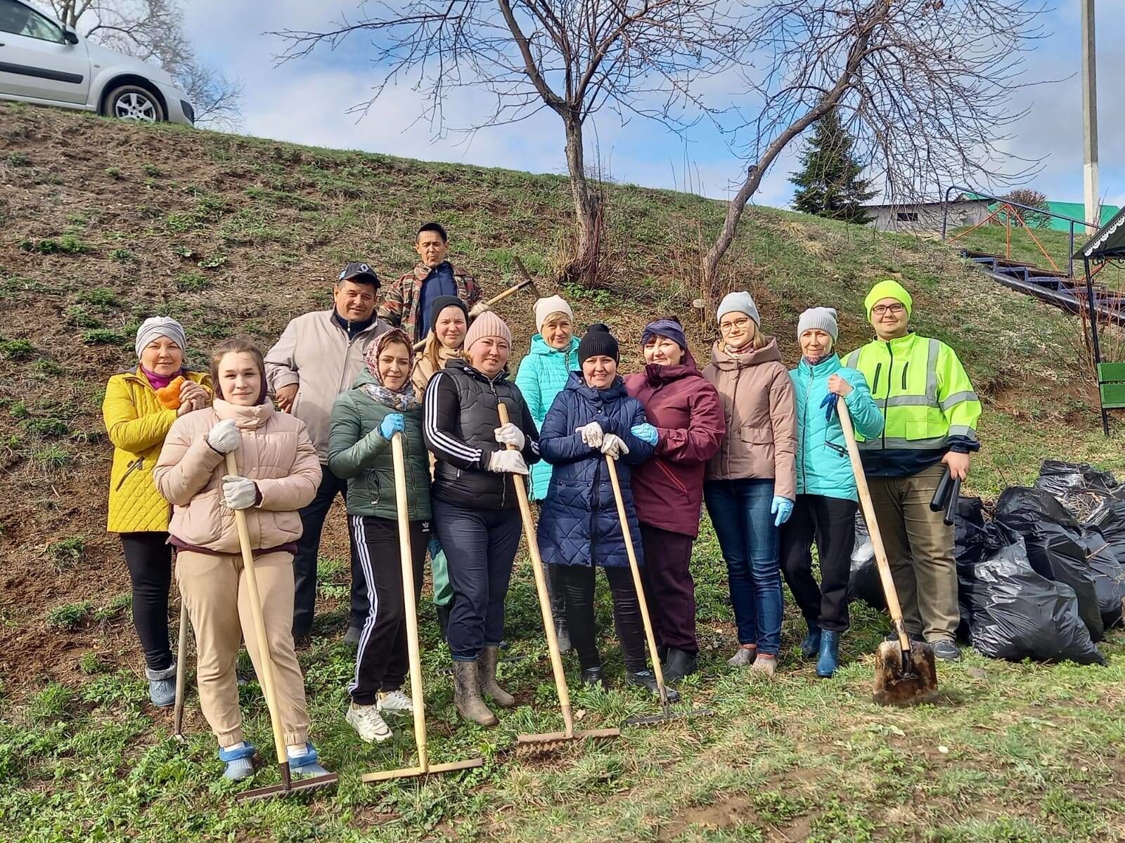
<path fill-rule="evenodd" d="M 187 92 L 196 123 L 238 123 L 242 83 L 198 60 L 179 0 L 50 0 L 55 17 L 96 44 L 159 64 Z"/>

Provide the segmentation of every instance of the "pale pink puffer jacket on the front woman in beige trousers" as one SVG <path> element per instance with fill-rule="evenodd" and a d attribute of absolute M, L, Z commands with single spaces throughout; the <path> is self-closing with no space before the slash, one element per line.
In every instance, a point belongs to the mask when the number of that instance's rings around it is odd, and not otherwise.
<path fill-rule="evenodd" d="M 172 504 L 168 532 L 186 544 L 215 553 L 238 553 L 234 513 L 223 504 L 223 454 L 207 444 L 218 422 L 235 419 L 242 443 L 234 452 L 241 477 L 258 486 L 262 501 L 246 510 L 254 550 L 267 550 L 300 538 L 300 515 L 321 484 L 321 461 L 305 424 L 277 413 L 267 401 L 237 407 L 216 400 L 214 407 L 181 416 L 161 448 L 153 479 Z"/>

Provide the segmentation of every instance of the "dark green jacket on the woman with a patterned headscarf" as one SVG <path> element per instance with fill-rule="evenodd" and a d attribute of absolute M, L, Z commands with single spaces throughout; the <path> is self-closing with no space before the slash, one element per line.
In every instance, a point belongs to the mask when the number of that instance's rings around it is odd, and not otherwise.
<path fill-rule="evenodd" d="M 375 379 L 360 370 L 353 388 L 332 405 L 328 424 L 328 469 L 348 481 L 348 514 L 398 517 L 390 442 L 379 425 L 394 413 L 360 389 Z M 406 419 L 406 498 L 412 522 L 430 520 L 430 462 L 422 439 L 422 405 L 403 414 Z"/>

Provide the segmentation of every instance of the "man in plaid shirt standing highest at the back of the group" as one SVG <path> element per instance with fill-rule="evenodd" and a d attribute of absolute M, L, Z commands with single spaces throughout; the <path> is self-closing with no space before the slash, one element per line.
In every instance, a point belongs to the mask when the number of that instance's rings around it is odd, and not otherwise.
<path fill-rule="evenodd" d="M 407 272 L 387 288 L 379 318 L 400 327 L 416 341 L 423 339 L 430 329 L 430 306 L 439 296 L 456 296 L 469 306 L 469 316 L 476 316 L 483 307 L 480 288 L 471 275 L 464 275 L 446 260 L 449 252 L 449 236 L 438 223 L 426 223 L 418 228 L 414 251 L 421 262 L 413 272 Z"/>

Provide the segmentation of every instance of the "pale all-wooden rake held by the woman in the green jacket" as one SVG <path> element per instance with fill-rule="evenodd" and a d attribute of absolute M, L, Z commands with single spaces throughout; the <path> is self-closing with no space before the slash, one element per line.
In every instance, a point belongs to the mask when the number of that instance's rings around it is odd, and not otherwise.
<path fill-rule="evenodd" d="M 483 758 L 453 761 L 448 764 L 431 764 L 426 752 L 425 699 L 422 695 L 422 656 L 418 653 L 417 597 L 414 592 L 414 556 L 411 553 L 411 518 L 406 501 L 406 460 L 403 455 L 403 434 L 390 437 L 390 455 L 395 465 L 395 504 L 398 508 L 398 556 L 403 568 L 403 605 L 406 607 L 406 647 L 411 656 L 411 703 L 414 708 L 414 743 L 418 750 L 417 767 L 399 770 L 363 773 L 362 781 L 389 781 L 411 779 L 431 773 L 453 772 L 482 767 Z"/>

